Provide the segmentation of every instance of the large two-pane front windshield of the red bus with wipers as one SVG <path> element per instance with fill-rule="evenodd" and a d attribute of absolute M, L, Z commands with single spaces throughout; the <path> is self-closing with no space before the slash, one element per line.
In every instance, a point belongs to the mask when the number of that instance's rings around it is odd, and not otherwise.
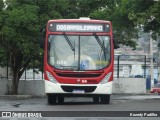
<path fill-rule="evenodd" d="M 49 35 L 48 62 L 56 69 L 100 70 L 110 64 L 110 37 Z"/>

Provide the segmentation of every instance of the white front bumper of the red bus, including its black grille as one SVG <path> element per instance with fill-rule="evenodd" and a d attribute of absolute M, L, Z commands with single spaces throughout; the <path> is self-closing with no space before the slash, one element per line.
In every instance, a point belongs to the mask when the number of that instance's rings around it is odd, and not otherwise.
<path fill-rule="evenodd" d="M 60 84 L 45 80 L 46 94 L 112 94 L 112 81 L 105 84 Z"/>

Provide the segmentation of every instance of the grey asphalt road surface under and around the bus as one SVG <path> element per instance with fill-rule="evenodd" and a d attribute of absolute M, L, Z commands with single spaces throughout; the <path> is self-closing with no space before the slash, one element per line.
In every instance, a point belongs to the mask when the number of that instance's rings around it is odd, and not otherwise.
<path fill-rule="evenodd" d="M 92 102 L 92 98 L 80 97 L 65 98 L 65 103 L 61 105 L 48 105 L 46 97 L 5 97 L 0 98 L 0 111 L 1 114 L 5 111 L 43 111 L 40 114 L 44 117 L 32 118 L 33 120 L 159 120 L 160 117 L 156 117 L 156 114 L 160 115 L 159 103 L 160 95 L 112 95 L 109 105 L 101 103 L 94 104 Z M 67 111 L 69 111 L 69 113 L 67 113 Z M 28 113 L 25 114 L 28 115 Z M 49 114 L 54 117 L 45 117 L 45 114 Z M 152 117 L 144 117 L 144 114 L 151 115 Z M 135 115 L 138 117 L 135 117 Z M 0 118 L 0 120 L 21 119 L 22 118 Z M 30 120 L 31 118 L 23 119 Z"/>

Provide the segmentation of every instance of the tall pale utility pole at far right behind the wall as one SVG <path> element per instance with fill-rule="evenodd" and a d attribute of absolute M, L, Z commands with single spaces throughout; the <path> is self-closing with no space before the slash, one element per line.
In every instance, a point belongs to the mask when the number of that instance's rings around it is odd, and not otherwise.
<path fill-rule="evenodd" d="M 151 76 L 151 89 L 154 87 L 154 74 L 153 74 L 153 40 L 152 40 L 152 31 L 150 32 L 150 76 Z"/>

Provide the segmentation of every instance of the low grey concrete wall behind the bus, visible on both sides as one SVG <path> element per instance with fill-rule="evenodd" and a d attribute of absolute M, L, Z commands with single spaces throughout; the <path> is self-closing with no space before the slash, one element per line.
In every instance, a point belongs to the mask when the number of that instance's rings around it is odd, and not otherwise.
<path fill-rule="evenodd" d="M 9 80 L 10 82 L 10 80 Z M 8 80 L 0 79 L 0 95 L 8 93 Z M 43 80 L 20 80 L 19 82 L 20 95 L 45 95 L 44 81 Z M 145 78 L 119 78 L 113 82 L 113 93 L 133 93 L 143 94 L 146 93 L 146 80 Z"/>

